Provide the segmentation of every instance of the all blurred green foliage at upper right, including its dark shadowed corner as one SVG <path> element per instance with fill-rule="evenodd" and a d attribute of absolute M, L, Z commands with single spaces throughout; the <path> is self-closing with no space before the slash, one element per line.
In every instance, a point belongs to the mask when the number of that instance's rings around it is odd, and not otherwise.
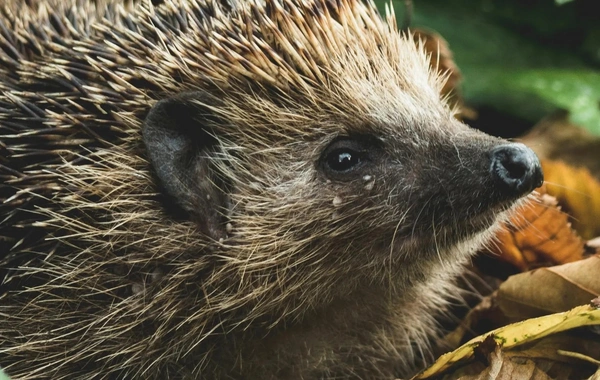
<path fill-rule="evenodd" d="M 376 0 L 383 11 L 386 0 Z M 402 20 L 403 1 L 395 0 Z M 413 27 L 437 31 L 469 106 L 532 125 L 553 110 L 600 135 L 597 0 L 414 0 Z"/>

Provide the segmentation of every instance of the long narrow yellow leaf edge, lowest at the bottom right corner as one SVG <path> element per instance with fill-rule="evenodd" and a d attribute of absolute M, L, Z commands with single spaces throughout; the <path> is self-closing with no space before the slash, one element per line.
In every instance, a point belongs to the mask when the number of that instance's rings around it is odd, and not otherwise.
<path fill-rule="evenodd" d="M 486 342 L 486 339 L 489 341 L 489 337 L 492 337 L 498 345 L 506 350 L 561 331 L 592 325 L 600 325 L 600 310 L 591 305 L 578 306 L 567 312 L 513 323 L 471 339 L 456 350 L 440 356 L 429 368 L 412 379 L 428 379 L 438 376 L 457 363 L 471 359 L 476 350 Z"/>

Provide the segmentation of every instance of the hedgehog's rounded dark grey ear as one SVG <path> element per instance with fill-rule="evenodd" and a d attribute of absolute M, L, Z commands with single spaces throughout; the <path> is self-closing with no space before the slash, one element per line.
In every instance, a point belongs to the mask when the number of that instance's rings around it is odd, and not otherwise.
<path fill-rule="evenodd" d="M 225 184 L 214 166 L 218 144 L 208 125 L 220 121 L 206 94 L 184 93 L 159 101 L 144 120 L 150 163 L 166 195 L 215 240 L 224 238 Z"/>

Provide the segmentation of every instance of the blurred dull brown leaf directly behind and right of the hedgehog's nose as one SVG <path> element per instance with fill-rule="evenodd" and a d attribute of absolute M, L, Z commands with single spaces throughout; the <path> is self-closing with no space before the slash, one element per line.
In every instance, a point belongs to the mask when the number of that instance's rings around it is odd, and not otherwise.
<path fill-rule="evenodd" d="M 542 119 L 519 141 L 541 159 L 588 168 L 600 179 L 600 138 L 571 123 L 566 111 Z"/>

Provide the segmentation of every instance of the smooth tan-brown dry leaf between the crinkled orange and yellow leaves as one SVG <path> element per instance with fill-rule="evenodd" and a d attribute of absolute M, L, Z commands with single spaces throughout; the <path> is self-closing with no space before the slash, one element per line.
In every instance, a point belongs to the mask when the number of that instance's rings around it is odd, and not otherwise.
<path fill-rule="evenodd" d="M 500 310 L 513 321 L 568 310 L 600 295 L 600 256 L 506 280 L 496 296 Z"/>

